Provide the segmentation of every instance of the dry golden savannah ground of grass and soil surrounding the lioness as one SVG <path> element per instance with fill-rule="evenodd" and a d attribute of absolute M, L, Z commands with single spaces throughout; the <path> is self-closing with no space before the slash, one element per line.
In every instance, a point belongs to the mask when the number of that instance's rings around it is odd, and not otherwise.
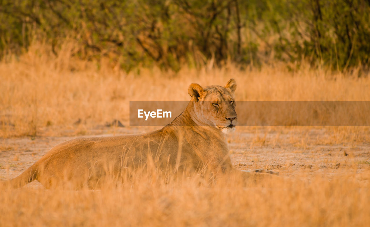
<path fill-rule="evenodd" d="M 33 46 L 0 63 L 0 179 L 13 178 L 51 147 L 81 136 L 149 132 L 130 127 L 129 101 L 186 101 L 191 83 L 238 84 L 237 101 L 370 101 L 370 77 L 302 65 L 240 70 L 212 61 L 178 73 L 125 73 L 110 62 L 54 57 Z M 340 116 L 339 116 L 340 117 Z M 125 127 L 111 123 L 119 120 Z M 227 135 L 234 167 L 273 169 L 292 182 L 202 182 L 156 176 L 91 191 L 37 182 L 0 189 L 0 226 L 367 226 L 369 127 L 237 127 Z M 201 183 L 199 183 L 201 182 Z"/>

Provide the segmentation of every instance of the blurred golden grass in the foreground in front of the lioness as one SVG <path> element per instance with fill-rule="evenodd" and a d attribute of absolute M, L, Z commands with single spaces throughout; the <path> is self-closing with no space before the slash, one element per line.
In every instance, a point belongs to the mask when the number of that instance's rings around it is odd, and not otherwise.
<path fill-rule="evenodd" d="M 23 188 L 0 195 L 1 226 L 366 226 L 369 184 L 350 173 L 310 183 L 199 184 L 142 177 L 101 191 Z"/>

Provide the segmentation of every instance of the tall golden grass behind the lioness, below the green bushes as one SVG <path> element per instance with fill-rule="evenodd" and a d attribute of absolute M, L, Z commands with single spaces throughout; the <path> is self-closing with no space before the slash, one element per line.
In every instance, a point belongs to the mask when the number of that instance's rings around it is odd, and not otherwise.
<path fill-rule="evenodd" d="M 370 100 L 367 74 L 356 78 L 309 65 L 289 71 L 284 64 L 261 70 L 228 64 L 220 69 L 212 61 L 200 70 L 183 67 L 176 74 L 159 69 L 125 73 L 107 59 L 71 57 L 74 45 L 68 43 L 57 57 L 45 49 L 34 45 L 25 55 L 0 63 L 0 136 L 58 135 L 55 126 L 68 129 L 78 119 L 87 129 L 113 119 L 128 125 L 129 101 L 186 101 L 189 84 L 223 85 L 231 77 L 238 83 L 240 101 Z"/>

